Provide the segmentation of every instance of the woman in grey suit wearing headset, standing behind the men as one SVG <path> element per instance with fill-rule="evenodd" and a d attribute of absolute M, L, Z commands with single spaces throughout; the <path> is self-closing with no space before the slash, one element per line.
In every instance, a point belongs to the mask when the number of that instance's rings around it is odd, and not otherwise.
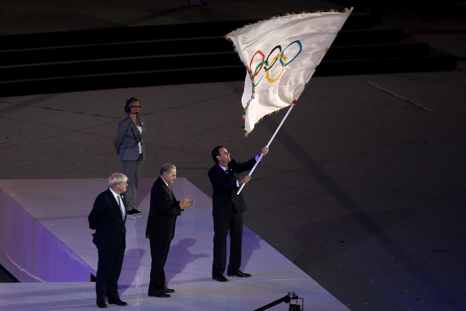
<path fill-rule="evenodd" d="M 136 199 L 139 177 L 142 166 L 146 160 L 146 146 L 144 145 L 144 135 L 146 125 L 144 118 L 139 114 L 141 105 L 137 98 L 126 99 L 126 117 L 118 122 L 113 145 L 116 153 L 120 157 L 122 173 L 128 177 L 128 187 L 125 192 L 126 209 L 128 216 L 141 214 L 136 209 L 134 200 Z"/>

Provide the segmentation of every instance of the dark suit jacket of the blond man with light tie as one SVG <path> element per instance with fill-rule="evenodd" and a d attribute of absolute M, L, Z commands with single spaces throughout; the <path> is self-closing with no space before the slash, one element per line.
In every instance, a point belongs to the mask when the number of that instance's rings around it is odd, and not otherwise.
<path fill-rule="evenodd" d="M 125 199 L 120 195 L 121 203 Z M 126 248 L 126 215 L 121 217 L 121 209 L 110 189 L 100 193 L 89 216 L 89 228 L 95 229 L 92 242 L 99 249 L 124 249 Z"/>

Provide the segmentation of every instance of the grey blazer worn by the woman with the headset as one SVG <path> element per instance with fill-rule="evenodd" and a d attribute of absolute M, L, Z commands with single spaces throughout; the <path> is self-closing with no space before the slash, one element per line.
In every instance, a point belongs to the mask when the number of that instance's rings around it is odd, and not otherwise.
<path fill-rule="evenodd" d="M 146 160 L 146 145 L 144 144 L 146 124 L 141 115 L 138 114 L 136 118 L 142 126 L 142 134 L 139 133 L 136 124 L 131 118 L 128 118 L 128 115 L 118 122 L 113 145 L 116 154 L 120 156 L 120 161 L 137 161 L 139 159 L 138 142 L 141 142 L 142 157 L 143 160 Z"/>

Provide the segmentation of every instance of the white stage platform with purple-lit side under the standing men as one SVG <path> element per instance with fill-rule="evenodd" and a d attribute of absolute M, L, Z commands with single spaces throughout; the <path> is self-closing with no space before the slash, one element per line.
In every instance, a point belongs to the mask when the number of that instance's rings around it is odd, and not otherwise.
<path fill-rule="evenodd" d="M 138 209 L 128 217 L 127 249 L 118 281 L 123 310 L 255 310 L 295 292 L 306 310 L 348 310 L 341 302 L 247 227 L 243 237 L 242 271 L 250 278 L 212 280 L 211 199 L 184 178 L 173 191 L 190 195 L 195 205 L 178 217 L 166 263 L 171 298 L 147 295 L 149 241 L 144 237 L 154 178 L 143 178 Z M 95 197 L 107 188 L 101 179 L 0 180 L 1 264 L 21 283 L 0 284 L 0 310 L 97 310 L 97 249 L 87 215 Z M 253 208 L 253 207 L 250 207 Z M 288 310 L 279 304 L 269 310 Z"/>

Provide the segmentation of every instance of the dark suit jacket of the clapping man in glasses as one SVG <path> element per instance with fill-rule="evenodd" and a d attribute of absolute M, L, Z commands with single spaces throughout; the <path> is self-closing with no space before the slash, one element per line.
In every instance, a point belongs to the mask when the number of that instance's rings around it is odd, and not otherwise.
<path fill-rule="evenodd" d="M 175 235 L 176 217 L 182 209 L 173 192 L 158 177 L 150 190 L 150 210 L 147 218 L 146 238 L 170 242 Z"/>

